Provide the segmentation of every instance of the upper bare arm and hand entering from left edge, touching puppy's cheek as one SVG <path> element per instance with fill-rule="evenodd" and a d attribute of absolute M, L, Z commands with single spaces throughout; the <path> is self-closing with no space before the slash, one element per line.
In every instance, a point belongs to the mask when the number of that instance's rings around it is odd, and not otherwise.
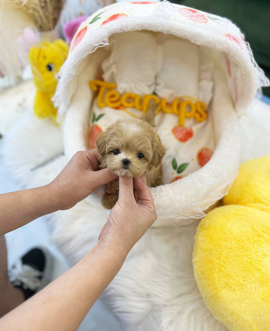
<path fill-rule="evenodd" d="M 117 178 L 99 170 L 97 150 L 77 152 L 49 184 L 0 195 L 0 235 L 40 216 L 73 207 L 98 186 Z"/>

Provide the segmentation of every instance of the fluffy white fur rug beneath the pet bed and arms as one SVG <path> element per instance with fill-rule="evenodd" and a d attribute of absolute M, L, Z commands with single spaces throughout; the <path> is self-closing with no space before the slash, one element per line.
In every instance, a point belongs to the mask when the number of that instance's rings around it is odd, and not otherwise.
<path fill-rule="evenodd" d="M 239 121 L 242 161 L 270 154 L 270 106 L 255 100 Z M 30 110 L 25 111 L 5 132 L 2 157 L 22 187 L 45 184 L 66 163 L 61 130 L 49 120 L 37 120 Z M 70 265 L 96 244 L 106 219 L 102 207 L 86 201 L 51 215 L 52 240 Z M 193 275 L 197 224 L 198 220 L 189 219 L 175 227 L 150 228 L 132 249 L 103 295 L 123 322 L 121 330 L 226 330 L 205 306 Z"/>

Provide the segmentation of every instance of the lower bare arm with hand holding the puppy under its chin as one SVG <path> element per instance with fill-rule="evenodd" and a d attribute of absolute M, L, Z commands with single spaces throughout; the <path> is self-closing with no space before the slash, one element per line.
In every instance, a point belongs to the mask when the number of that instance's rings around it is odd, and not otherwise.
<path fill-rule="evenodd" d="M 140 178 L 121 177 L 119 200 L 100 232 L 98 244 L 49 286 L 5 315 L 0 320 L 0 329 L 78 329 L 89 309 L 120 270 L 130 249 L 156 218 L 146 183 Z"/>

